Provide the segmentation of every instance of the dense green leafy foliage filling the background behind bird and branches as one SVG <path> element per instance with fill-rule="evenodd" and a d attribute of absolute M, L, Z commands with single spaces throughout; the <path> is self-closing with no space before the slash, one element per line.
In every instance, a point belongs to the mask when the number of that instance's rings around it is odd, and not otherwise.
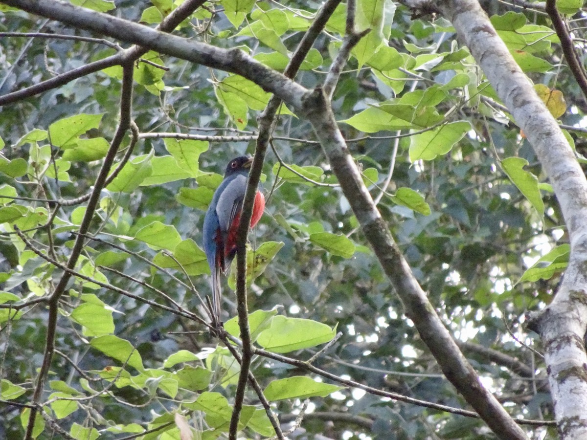
<path fill-rule="evenodd" d="M 245 3 L 207 2 L 174 33 L 222 48 L 239 47 L 282 69 L 318 2 Z M 107 6 L 110 13 L 153 25 L 177 6 L 171 1 L 97 0 L 84 5 Z M 529 78 L 548 90 L 562 90 L 568 111 L 556 116 L 570 128 L 569 138 L 580 153 L 583 130 L 577 127 L 585 102 L 561 64 L 548 18 L 539 8 L 501 2 L 485 6 Z M 242 12 L 231 12 L 235 8 Z M 323 82 L 340 47 L 345 11 L 345 4 L 337 8 L 302 66 L 297 80 L 304 86 Z M 544 366 L 534 351 L 540 347 L 534 347 L 535 335 L 523 323 L 525 313 L 551 300 L 568 249 L 562 246 L 562 219 L 543 184 L 537 158 L 467 50 L 458 46 L 450 23 L 428 17 L 412 20 L 404 6 L 389 1 L 359 2 L 358 11 L 357 27 L 370 27 L 372 32 L 353 51 L 333 96 L 336 119 L 353 156 L 362 165 L 373 197 L 380 198 L 378 207 L 418 281 L 484 383 L 514 417 L 551 419 Z M 2 15 L 2 32 L 89 36 L 8 8 Z M 582 11 L 572 8 L 567 16 L 572 26 L 581 27 Z M 96 42 L 3 36 L 0 93 L 112 53 L 114 49 Z M 183 309 L 205 316 L 194 290 L 200 295 L 210 292 L 207 268 L 190 240 L 201 243 L 205 207 L 219 180 L 210 173 L 221 173 L 236 155 L 252 153 L 253 140 L 234 137 L 254 134 L 268 94 L 240 77 L 204 66 L 155 53 L 143 59 L 168 70 L 137 63 L 132 116 L 144 138 L 119 177 L 102 192 L 90 227 L 90 235 L 99 241 L 87 242 L 76 268 L 136 297 L 79 277 L 68 285 L 59 304 L 58 351 L 42 399 L 50 403 L 45 405 L 45 429 L 41 432 L 39 425 L 35 432 L 38 438 L 50 438 L 57 429 L 50 419 L 75 438 L 126 438 L 173 422 L 180 408 L 203 432 L 202 438 L 215 438 L 211 427 L 227 429 L 226 414 L 214 419 L 211 410 L 187 402 L 205 395 L 204 390 L 220 392 L 231 401 L 235 367 L 228 363 L 230 356 L 223 357 L 225 349 L 217 348 L 215 355 L 204 358 L 217 347 L 217 339 L 197 322 L 141 299 L 169 305 L 163 292 Z M 46 341 L 48 316 L 42 299 L 62 274 L 26 248 L 14 225 L 29 230 L 26 235 L 33 246 L 53 259 L 63 262 L 69 255 L 85 205 L 59 201 L 80 197 L 92 187 L 116 128 L 121 77 L 122 69 L 112 67 L 2 107 L 3 438 L 22 436 L 26 427 L 27 410 L 9 402 L 31 401 Z M 83 116 L 95 114 L 102 116 L 93 123 Z M 68 119 L 76 115 L 82 116 Z M 77 133 L 72 128 L 77 122 L 87 123 L 87 129 Z M 442 130 L 450 133 L 438 136 Z M 154 132 L 215 137 L 209 143 L 146 137 Z M 249 310 L 271 310 L 279 304 L 280 314 L 336 327 L 342 336 L 314 361 L 323 370 L 419 400 L 463 407 L 366 247 L 309 123 L 283 110 L 274 136 L 272 146 L 279 158 L 270 154 L 266 161 L 268 206 L 251 242 L 254 248 L 264 242 L 281 242 L 283 247 L 249 290 Z M 123 145 L 129 143 L 127 139 Z M 526 160 L 525 171 L 515 161 L 504 161 L 511 157 Z M 302 167 L 296 170 L 320 185 L 283 170 L 279 177 L 274 164 L 280 160 Z M 385 188 L 392 171 L 392 182 Z M 153 260 L 160 266 L 173 265 L 164 252 L 175 251 L 180 258 L 180 242 L 184 251 L 188 249 L 184 261 L 190 263 L 191 276 L 149 264 Z M 538 263 L 542 272 L 527 272 L 551 249 L 555 254 Z M 232 295 L 225 296 L 230 305 Z M 20 307 L 23 303 L 27 305 Z M 234 316 L 234 307 L 228 310 Z M 115 350 L 119 340 L 109 335 L 129 341 L 136 351 L 127 351 L 126 345 Z M 490 349 L 507 356 L 497 358 Z M 312 346 L 290 355 L 306 359 L 316 350 Z M 190 362 L 166 364 L 176 353 Z M 218 367 L 222 363 L 226 368 Z M 264 358 L 254 361 L 252 371 L 263 387 L 296 375 L 323 381 L 302 368 Z M 95 394 L 98 390 L 106 391 Z M 275 411 L 282 420 L 291 419 L 300 411 L 303 397 L 301 392 L 276 400 Z M 250 392 L 245 403 L 258 404 L 257 397 Z M 313 397 L 306 411 L 301 427 L 292 434 L 298 438 L 492 436 L 477 419 L 350 388 Z M 247 436 L 271 435 L 261 418 L 248 424 Z M 533 438 L 552 435 L 544 427 L 525 429 Z M 172 423 L 146 438 L 178 436 Z"/>

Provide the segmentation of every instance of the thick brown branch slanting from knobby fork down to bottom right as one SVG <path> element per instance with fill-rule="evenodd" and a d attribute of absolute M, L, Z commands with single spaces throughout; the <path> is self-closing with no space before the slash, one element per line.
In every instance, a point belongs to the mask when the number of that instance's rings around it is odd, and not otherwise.
<path fill-rule="evenodd" d="M 414 322 L 444 375 L 495 434 L 504 439 L 527 438 L 495 397 L 483 387 L 418 284 L 363 183 L 322 90 L 318 89 L 308 96 L 304 105 L 305 117 L 311 121 L 363 233 L 402 300 L 406 316 Z"/>

